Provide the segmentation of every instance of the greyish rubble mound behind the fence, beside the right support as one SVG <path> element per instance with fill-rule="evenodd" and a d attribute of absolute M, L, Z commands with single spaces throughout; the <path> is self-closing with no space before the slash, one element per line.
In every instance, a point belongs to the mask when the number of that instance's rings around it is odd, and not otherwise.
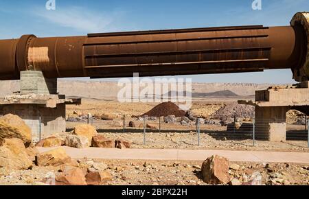
<path fill-rule="evenodd" d="M 220 108 L 216 113 L 211 115 L 211 118 L 220 119 L 220 117 L 243 117 L 252 118 L 255 115 L 254 106 L 244 104 L 227 104 Z"/>

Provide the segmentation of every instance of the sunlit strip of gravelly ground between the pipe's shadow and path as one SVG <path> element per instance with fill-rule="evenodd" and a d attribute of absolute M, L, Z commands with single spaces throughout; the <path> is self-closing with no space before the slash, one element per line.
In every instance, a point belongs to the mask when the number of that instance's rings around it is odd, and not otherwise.
<path fill-rule="evenodd" d="M 102 133 L 108 139 L 126 139 L 132 142 L 131 148 L 179 148 L 179 149 L 220 149 L 220 150 L 269 150 L 284 152 L 309 152 L 306 141 L 269 142 L 252 139 L 226 140 L 215 139 L 209 134 L 201 134 L 200 146 L 195 132 L 191 133 Z"/>

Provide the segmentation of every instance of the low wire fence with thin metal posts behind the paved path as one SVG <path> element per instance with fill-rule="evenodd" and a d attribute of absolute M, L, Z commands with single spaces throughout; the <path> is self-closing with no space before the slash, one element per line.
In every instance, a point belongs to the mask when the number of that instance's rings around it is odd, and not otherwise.
<path fill-rule="evenodd" d="M 69 132 L 79 124 L 95 126 L 99 133 L 113 139 L 127 139 L 137 148 L 309 148 L 309 119 L 287 124 L 279 119 L 219 119 L 188 120 L 170 117 L 131 118 L 124 115 L 118 119 L 84 117 L 57 119 L 54 117 L 23 117 L 32 130 L 33 140 Z M 16 124 L 18 125 L 18 124 Z M 275 140 L 275 142 L 273 142 Z"/>

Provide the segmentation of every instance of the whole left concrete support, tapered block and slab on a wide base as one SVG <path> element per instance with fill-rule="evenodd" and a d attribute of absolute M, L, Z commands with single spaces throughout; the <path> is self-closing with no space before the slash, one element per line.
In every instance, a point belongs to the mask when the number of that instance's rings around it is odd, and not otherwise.
<path fill-rule="evenodd" d="M 57 80 L 44 78 L 41 71 L 22 71 L 20 86 L 21 94 L 0 100 L 0 115 L 19 115 L 32 129 L 33 141 L 65 132 L 65 105 L 81 100 L 57 95 Z"/>

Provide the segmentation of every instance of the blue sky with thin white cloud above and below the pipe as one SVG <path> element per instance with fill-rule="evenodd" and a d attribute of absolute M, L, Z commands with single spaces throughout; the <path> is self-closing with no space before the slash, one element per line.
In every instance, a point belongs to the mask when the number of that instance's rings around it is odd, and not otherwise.
<path fill-rule="evenodd" d="M 91 32 L 157 30 L 225 25 L 289 25 L 295 12 L 309 11 L 308 0 L 1 0 L 0 38 L 76 36 Z M 290 70 L 222 75 L 190 75 L 194 82 L 293 83 Z"/>

